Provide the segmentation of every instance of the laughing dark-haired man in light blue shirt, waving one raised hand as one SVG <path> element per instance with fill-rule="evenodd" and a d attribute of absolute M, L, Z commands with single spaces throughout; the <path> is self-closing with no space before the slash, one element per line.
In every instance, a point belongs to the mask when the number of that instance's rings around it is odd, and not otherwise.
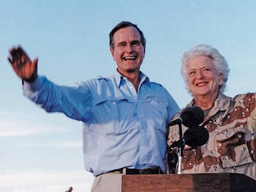
<path fill-rule="evenodd" d="M 130 22 L 109 33 L 117 71 L 72 87 L 37 74 L 22 48 L 12 48 L 9 62 L 23 80 L 23 94 L 48 112 L 62 112 L 83 122 L 85 169 L 92 191 L 121 191 L 122 174 L 166 172 L 166 123 L 179 107 L 168 91 L 140 72 L 146 40 Z"/>

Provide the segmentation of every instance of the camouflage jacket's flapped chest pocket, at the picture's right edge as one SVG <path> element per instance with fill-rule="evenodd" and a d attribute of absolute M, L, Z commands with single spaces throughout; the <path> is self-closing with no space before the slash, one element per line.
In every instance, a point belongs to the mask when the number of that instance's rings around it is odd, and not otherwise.
<path fill-rule="evenodd" d="M 227 128 L 216 134 L 216 141 L 223 168 L 236 167 L 252 162 L 245 143 L 244 127 Z"/>

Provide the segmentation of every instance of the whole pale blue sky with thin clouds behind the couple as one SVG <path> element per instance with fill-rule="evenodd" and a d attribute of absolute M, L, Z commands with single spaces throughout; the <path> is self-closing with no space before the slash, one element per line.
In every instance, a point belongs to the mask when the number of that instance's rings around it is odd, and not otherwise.
<path fill-rule="evenodd" d="M 7 62 L 21 44 L 38 73 L 59 85 L 111 75 L 109 31 L 122 20 L 136 23 L 147 39 L 141 70 L 184 107 L 191 97 L 180 75 L 181 57 L 210 44 L 231 69 L 229 96 L 254 91 L 256 1 L 4 1 L 0 0 L 0 191 L 90 191 L 82 123 L 48 114 L 22 95 Z M 102 143 L 104 144 L 104 143 Z"/>

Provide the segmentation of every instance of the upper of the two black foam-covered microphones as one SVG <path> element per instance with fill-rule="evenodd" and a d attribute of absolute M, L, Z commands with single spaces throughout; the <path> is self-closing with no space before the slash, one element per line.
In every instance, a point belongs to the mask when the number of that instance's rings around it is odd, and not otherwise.
<path fill-rule="evenodd" d="M 195 127 L 203 122 L 205 115 L 200 107 L 191 106 L 186 107 L 182 112 L 181 116 L 177 119 L 168 123 L 168 126 L 183 124 L 186 127 Z"/>

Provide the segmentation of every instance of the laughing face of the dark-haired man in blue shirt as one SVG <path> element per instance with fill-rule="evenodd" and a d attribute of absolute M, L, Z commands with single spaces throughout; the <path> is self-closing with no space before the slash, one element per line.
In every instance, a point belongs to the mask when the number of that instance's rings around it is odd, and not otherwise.
<path fill-rule="evenodd" d="M 110 48 L 110 52 L 122 75 L 139 72 L 145 56 L 139 31 L 134 27 L 117 30 L 113 36 L 113 48 Z"/>

